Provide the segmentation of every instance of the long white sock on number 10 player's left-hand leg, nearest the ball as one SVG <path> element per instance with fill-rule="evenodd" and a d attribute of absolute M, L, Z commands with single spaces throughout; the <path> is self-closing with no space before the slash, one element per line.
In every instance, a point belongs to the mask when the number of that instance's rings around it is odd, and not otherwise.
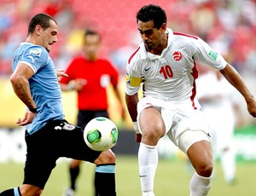
<path fill-rule="evenodd" d="M 156 147 L 141 143 L 138 150 L 138 164 L 143 196 L 154 196 L 154 175 L 158 164 Z"/>

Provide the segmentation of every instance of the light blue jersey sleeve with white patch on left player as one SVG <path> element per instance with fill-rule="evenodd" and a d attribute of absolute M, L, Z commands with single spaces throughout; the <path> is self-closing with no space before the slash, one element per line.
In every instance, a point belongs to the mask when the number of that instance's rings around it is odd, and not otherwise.
<path fill-rule="evenodd" d="M 49 55 L 46 49 L 35 45 L 26 49 L 19 63 L 25 63 L 32 68 L 33 72 L 38 72 L 38 69 L 44 66 L 48 60 Z"/>

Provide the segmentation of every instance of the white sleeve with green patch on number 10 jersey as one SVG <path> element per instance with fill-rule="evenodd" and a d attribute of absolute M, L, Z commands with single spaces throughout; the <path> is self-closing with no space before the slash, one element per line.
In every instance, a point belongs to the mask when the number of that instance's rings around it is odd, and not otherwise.
<path fill-rule="evenodd" d="M 224 57 L 218 54 L 217 51 L 212 49 L 206 42 L 201 38 L 195 41 L 195 60 L 201 61 L 202 63 L 212 66 L 217 70 L 223 70 L 227 65 Z"/>

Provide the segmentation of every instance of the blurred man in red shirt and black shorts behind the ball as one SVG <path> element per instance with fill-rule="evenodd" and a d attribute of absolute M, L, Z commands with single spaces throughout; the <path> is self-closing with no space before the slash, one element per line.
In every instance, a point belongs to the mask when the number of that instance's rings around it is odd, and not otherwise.
<path fill-rule="evenodd" d="M 108 115 L 107 88 L 113 85 L 113 91 L 122 105 L 118 89 L 119 73 L 114 66 L 106 60 L 98 58 L 101 45 L 101 36 L 98 32 L 87 30 L 84 34 L 84 49 L 82 55 L 75 57 L 67 66 L 67 78 L 61 78 L 62 90 L 75 90 L 78 93 L 78 122 L 77 125 L 84 129 L 92 118 L 106 117 Z M 121 116 L 125 112 L 122 107 Z M 73 195 L 76 190 L 76 180 L 79 176 L 80 160 L 73 159 L 69 166 L 70 187 L 64 195 Z M 106 165 L 108 166 L 108 165 Z M 98 195 L 96 188 L 96 196 Z"/>

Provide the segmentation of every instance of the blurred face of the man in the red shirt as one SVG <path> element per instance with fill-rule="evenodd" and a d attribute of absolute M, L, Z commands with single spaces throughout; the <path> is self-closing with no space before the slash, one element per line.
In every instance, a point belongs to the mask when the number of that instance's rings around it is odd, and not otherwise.
<path fill-rule="evenodd" d="M 95 61 L 100 48 L 100 37 L 98 35 L 87 35 L 84 40 L 84 55 L 89 61 Z"/>

